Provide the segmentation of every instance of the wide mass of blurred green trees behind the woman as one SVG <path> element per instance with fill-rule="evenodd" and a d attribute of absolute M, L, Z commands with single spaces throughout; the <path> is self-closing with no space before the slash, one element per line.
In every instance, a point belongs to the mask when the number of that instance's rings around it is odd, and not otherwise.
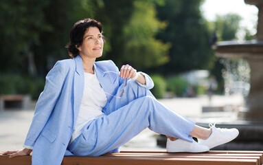
<path fill-rule="evenodd" d="M 97 19 L 103 25 L 106 43 L 98 61 L 111 59 L 118 67 L 129 63 L 138 70 L 159 72 L 161 68 L 165 74 L 207 69 L 214 56 L 208 44 L 211 30 L 199 10 L 201 3 L 202 0 L 3 0 L 0 79 L 10 73 L 19 78 L 44 78 L 56 61 L 69 58 L 65 45 L 70 29 L 84 18 Z M 238 19 L 234 15 L 218 17 L 218 22 L 212 23 L 220 39 L 233 38 Z"/>

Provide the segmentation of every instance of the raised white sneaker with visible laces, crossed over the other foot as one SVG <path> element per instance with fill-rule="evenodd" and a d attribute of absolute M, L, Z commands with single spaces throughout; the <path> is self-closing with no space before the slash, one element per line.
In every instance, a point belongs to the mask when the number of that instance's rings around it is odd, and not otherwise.
<path fill-rule="evenodd" d="M 208 146 L 209 149 L 230 142 L 239 134 L 238 129 L 219 129 L 216 128 L 216 124 L 209 124 L 209 126 L 212 131 L 211 135 L 206 140 L 198 139 L 199 144 Z"/>

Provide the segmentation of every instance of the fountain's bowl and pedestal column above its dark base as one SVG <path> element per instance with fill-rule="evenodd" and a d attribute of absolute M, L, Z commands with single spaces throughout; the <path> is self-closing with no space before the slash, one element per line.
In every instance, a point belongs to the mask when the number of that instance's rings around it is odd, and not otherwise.
<path fill-rule="evenodd" d="M 245 109 L 240 110 L 240 119 L 251 122 L 263 121 L 263 1 L 245 0 L 256 5 L 258 14 L 258 33 L 253 41 L 222 41 L 216 44 L 216 56 L 240 57 L 249 62 L 251 69 L 251 89 Z"/>

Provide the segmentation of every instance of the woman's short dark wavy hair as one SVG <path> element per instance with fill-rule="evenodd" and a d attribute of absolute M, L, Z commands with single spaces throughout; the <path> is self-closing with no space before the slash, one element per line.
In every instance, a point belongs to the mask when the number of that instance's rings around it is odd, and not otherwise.
<path fill-rule="evenodd" d="M 102 24 L 95 19 L 83 19 L 76 22 L 71 28 L 69 38 L 70 42 L 65 46 L 69 52 L 71 58 L 78 56 L 79 51 L 77 47 L 82 45 L 83 36 L 89 27 L 97 27 L 102 33 Z M 104 36 L 102 36 L 104 41 Z"/>

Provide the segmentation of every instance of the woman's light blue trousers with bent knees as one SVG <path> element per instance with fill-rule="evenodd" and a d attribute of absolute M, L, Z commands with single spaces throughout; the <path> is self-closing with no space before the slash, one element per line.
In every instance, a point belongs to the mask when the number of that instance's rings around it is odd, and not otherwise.
<path fill-rule="evenodd" d="M 122 86 L 117 94 L 121 89 Z M 156 133 L 192 142 L 189 134 L 195 122 L 165 107 L 148 89 L 133 80 L 128 80 L 124 96 L 113 98 L 104 113 L 106 115 L 86 124 L 82 134 L 69 145 L 74 155 L 118 152 L 119 146 L 147 127 Z"/>

